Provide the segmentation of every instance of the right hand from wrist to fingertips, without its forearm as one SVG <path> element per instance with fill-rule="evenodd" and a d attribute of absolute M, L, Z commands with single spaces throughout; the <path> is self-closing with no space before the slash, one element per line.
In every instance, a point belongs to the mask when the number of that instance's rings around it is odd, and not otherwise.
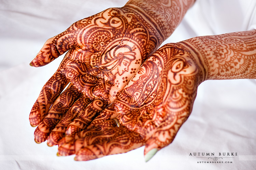
<path fill-rule="evenodd" d="M 160 48 L 120 93 L 112 105 L 115 109 L 101 113 L 116 115 L 116 111 L 121 128 L 115 127 L 114 121 L 103 121 L 106 116 L 99 116 L 94 120 L 102 122 L 99 126 L 63 138 L 59 154 L 76 154 L 78 160 L 89 160 L 143 145 L 145 153 L 169 145 L 191 113 L 201 81 L 202 72 L 182 46 Z"/>

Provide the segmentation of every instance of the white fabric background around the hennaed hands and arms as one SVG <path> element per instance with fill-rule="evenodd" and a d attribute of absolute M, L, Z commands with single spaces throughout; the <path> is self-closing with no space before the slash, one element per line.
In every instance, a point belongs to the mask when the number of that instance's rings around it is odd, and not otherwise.
<path fill-rule="evenodd" d="M 0 0 L 0 169 L 255 169 L 255 80 L 203 82 L 193 111 L 173 143 L 148 163 L 144 162 L 144 147 L 75 162 L 74 156 L 57 157 L 57 147 L 34 142 L 29 113 L 62 57 L 42 68 L 30 67 L 30 61 L 48 38 L 73 22 L 108 7 L 121 7 L 126 1 Z M 253 26 L 256 29 L 255 11 L 255 0 L 198 0 L 164 44 Z M 232 164 L 199 164 L 210 160 L 189 156 L 194 152 L 214 152 L 216 157 L 225 157 L 219 152 L 237 152 L 238 156 L 221 160 Z"/>

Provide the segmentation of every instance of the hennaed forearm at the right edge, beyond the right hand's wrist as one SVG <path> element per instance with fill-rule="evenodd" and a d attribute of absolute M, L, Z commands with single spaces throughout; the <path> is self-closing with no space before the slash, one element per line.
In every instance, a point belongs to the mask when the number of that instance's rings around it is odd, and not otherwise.
<path fill-rule="evenodd" d="M 179 44 L 198 56 L 204 80 L 256 79 L 256 30 L 195 37 Z"/>

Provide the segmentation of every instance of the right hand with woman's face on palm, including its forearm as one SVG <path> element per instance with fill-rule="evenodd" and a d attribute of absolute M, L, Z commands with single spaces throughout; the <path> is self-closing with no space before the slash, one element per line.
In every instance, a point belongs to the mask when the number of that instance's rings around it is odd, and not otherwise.
<path fill-rule="evenodd" d="M 96 124 L 61 139 L 58 154 L 91 160 L 141 146 L 144 154 L 160 150 L 190 115 L 200 83 L 255 78 L 256 30 L 167 44 L 143 63 Z"/>

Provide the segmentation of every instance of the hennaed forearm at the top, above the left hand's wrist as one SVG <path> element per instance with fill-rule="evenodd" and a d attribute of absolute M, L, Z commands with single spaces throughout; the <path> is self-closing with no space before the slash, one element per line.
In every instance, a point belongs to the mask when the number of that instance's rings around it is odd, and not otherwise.
<path fill-rule="evenodd" d="M 129 0 L 124 7 L 134 10 L 138 17 L 150 20 L 147 27 L 156 31 L 161 41 L 168 38 L 195 0 Z"/>

